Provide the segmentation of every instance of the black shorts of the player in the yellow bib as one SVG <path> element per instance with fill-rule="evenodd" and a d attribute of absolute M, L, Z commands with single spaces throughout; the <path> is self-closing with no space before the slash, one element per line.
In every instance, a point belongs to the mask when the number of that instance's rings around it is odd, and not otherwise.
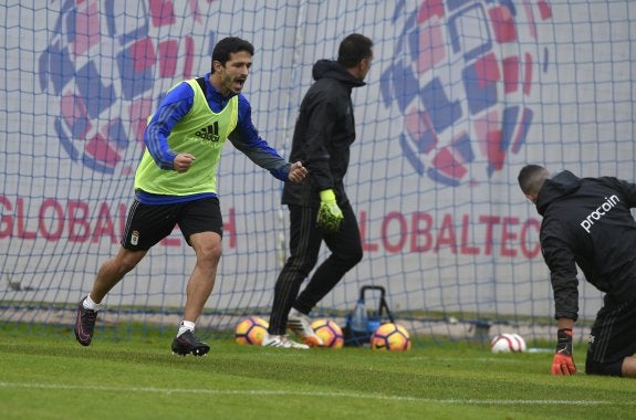
<path fill-rule="evenodd" d="M 223 219 L 216 197 L 174 204 L 144 204 L 138 200 L 128 210 L 122 246 L 131 251 L 147 251 L 179 225 L 186 242 L 200 232 L 223 235 Z"/>

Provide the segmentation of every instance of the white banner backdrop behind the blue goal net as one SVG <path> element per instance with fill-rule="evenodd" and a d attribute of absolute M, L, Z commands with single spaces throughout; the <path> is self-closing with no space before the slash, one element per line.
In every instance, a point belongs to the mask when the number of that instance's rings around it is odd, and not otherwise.
<path fill-rule="evenodd" d="M 478 130 L 473 122 L 460 118 L 438 133 L 445 144 L 462 130 L 473 138 L 476 157 L 458 186 L 417 172 L 399 143 L 403 136 L 415 145 L 408 139 L 405 111 L 395 97 L 383 96 L 387 92 L 383 75 L 392 66 L 416 65 L 404 29 L 420 2 L 165 3 L 174 6 L 176 18 L 164 25 L 153 24 L 146 2 L 87 1 L 64 11 L 67 3 L 56 1 L 30 6 L 8 1 L 0 7 L 4 12 L 0 56 L 6 70 L 0 90 L 0 269 L 6 279 L 0 300 L 73 302 L 90 290 L 100 264 L 116 252 L 133 197 L 132 171 L 143 150 L 142 143 L 133 137 L 138 118 L 131 117 L 129 112 L 138 97 L 124 98 L 122 81 L 126 74 L 121 73 L 126 71 L 118 70 L 116 57 L 134 43 L 121 34 L 144 25 L 155 46 L 174 40 L 184 52 L 188 48 L 185 38 L 191 38 L 192 76 L 209 71 L 216 40 L 227 35 L 250 40 L 257 53 L 243 93 L 252 104 L 254 125 L 283 156 L 288 156 L 300 101 L 312 83 L 315 60 L 335 59 L 340 41 L 348 33 L 359 32 L 374 40 L 368 84 L 353 93 L 357 140 L 347 175 L 350 196 L 364 228 L 366 253 L 325 298 L 324 306 L 348 307 L 361 285 L 379 284 L 387 287 L 390 304 L 398 309 L 549 316 L 552 293 L 532 224 L 540 219 L 518 190 L 518 170 L 526 162 L 539 162 L 582 176 L 635 178 L 636 51 L 629 34 L 636 33 L 636 8 L 628 1 L 550 2 L 551 15 L 544 19 L 540 19 L 540 11 L 546 2 L 511 2 L 519 42 L 491 45 L 490 51 L 498 57 L 519 55 L 522 64 L 531 56 L 531 91 L 502 95 L 500 83 L 499 103 L 492 109 L 501 112 L 517 104 L 531 109 L 533 118 L 525 143 L 518 153 L 508 153 L 502 167 L 491 174 L 487 170 L 488 156 L 481 151 L 483 144 L 475 140 Z M 465 3 L 466 10 L 487 7 L 481 1 Z M 43 53 L 52 45 L 73 48 L 73 35 L 82 32 L 71 24 L 77 11 L 96 17 L 100 31 L 91 35 L 98 42 L 77 54 L 71 69 L 93 62 L 101 82 L 112 86 L 116 97 L 91 119 L 92 126 L 82 137 L 73 137 L 69 127 L 63 129 L 83 153 L 87 138 L 121 117 L 127 146 L 117 149 L 121 160 L 108 174 L 74 159 L 60 141 L 56 124 L 63 114 L 63 93 L 54 92 L 52 76 L 46 74 L 55 67 L 42 63 Z M 449 27 L 456 15 L 457 11 L 447 9 L 444 17 L 430 22 Z M 536 25 L 534 38 L 529 30 L 531 15 Z M 483 22 L 475 23 L 475 28 L 469 19 L 462 22 L 458 38 L 469 48 L 473 42 L 470 36 Z M 420 29 L 426 25 L 417 24 Z M 119 35 L 110 35 L 108 30 Z M 447 51 L 451 51 L 449 42 L 444 40 Z M 442 65 L 420 74 L 419 83 L 408 88 L 421 90 L 425 82 L 439 77 L 445 93 L 458 101 L 466 115 L 461 77 L 467 63 L 460 55 L 449 53 Z M 150 69 L 152 88 L 144 95 L 153 109 L 160 95 L 184 78 L 183 70 L 188 66 L 184 60 L 177 60 L 173 77 L 161 77 L 158 65 Z M 76 77 L 62 86 L 64 93 L 79 95 L 73 84 Z M 48 81 L 45 86 L 42 80 Z M 430 168 L 434 155 L 417 158 Z M 223 151 L 219 172 L 229 230 L 209 306 L 267 306 L 286 249 L 282 185 L 231 145 Z M 113 291 L 110 304 L 180 306 L 185 279 L 192 266 L 191 251 L 176 231 L 168 244 L 154 249 Z M 21 290 L 6 286 L 9 283 L 21 284 Z M 582 293 L 583 315 L 593 316 L 599 294 L 585 285 Z"/>

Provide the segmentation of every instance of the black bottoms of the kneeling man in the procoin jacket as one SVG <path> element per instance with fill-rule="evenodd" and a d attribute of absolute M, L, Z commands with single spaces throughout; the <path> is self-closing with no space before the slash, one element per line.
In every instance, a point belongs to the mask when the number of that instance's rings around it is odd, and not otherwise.
<path fill-rule="evenodd" d="M 587 346 L 585 371 L 621 376 L 623 359 L 636 353 L 636 301 L 616 303 L 605 297 Z"/>

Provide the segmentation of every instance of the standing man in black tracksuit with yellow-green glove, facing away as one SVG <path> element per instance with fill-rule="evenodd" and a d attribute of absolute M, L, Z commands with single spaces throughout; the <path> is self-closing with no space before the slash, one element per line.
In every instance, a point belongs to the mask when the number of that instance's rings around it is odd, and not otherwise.
<path fill-rule="evenodd" d="M 284 186 L 282 203 L 290 210 L 290 256 L 277 280 L 263 346 L 322 346 L 307 314 L 362 260 L 362 240 L 344 177 L 355 140 L 351 94 L 354 87 L 365 85 L 372 60 L 373 42 L 351 34 L 341 42 L 337 61 L 320 60 L 313 66 L 315 83 L 301 104 L 290 154 L 290 159 L 309 167 L 309 175 L 303 183 Z M 302 282 L 316 265 L 322 241 L 332 254 L 299 295 Z M 288 327 L 304 346 L 286 337 Z"/>

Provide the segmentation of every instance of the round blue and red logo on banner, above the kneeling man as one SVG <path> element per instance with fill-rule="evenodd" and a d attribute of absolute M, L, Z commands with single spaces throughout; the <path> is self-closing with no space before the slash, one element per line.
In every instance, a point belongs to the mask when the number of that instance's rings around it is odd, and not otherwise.
<path fill-rule="evenodd" d="M 526 141 L 530 97 L 550 59 L 539 25 L 551 9 L 510 0 L 409 7 L 395 9 L 395 57 L 380 80 L 385 105 L 404 117 L 403 155 L 441 185 L 487 181 Z"/>

